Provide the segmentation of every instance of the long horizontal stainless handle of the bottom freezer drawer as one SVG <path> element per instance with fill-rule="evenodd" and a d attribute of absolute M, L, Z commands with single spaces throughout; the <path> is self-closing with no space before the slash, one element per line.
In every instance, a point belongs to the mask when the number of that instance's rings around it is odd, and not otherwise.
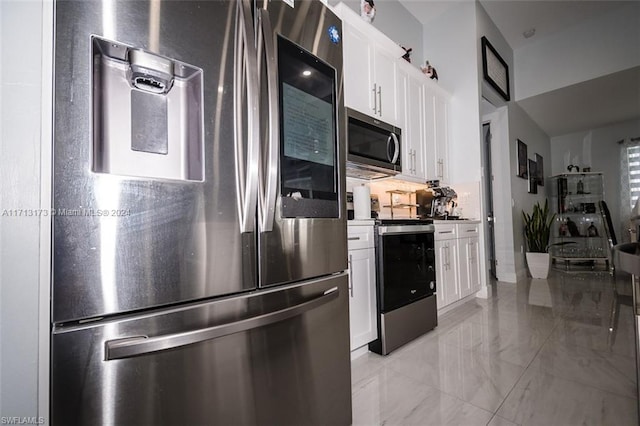
<path fill-rule="evenodd" d="M 240 333 L 276 322 L 284 321 L 305 312 L 318 308 L 326 303 L 337 299 L 340 295 L 338 287 L 327 290 L 321 296 L 303 302 L 299 305 L 290 306 L 279 311 L 269 312 L 253 318 L 240 321 L 215 325 L 213 327 L 200 330 L 187 331 L 184 333 L 168 334 L 156 337 L 127 337 L 124 339 L 109 340 L 105 343 L 105 361 L 115 359 L 131 358 L 138 355 L 145 355 L 167 349 L 178 348 L 180 346 L 192 345 L 206 340 L 217 339 L 218 337 Z"/>

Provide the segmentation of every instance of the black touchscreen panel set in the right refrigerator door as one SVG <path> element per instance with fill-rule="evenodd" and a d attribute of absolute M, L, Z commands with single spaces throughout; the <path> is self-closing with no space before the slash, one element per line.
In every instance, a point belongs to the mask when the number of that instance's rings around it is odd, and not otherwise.
<path fill-rule="evenodd" d="M 336 218 L 336 71 L 278 37 L 282 217 Z"/>

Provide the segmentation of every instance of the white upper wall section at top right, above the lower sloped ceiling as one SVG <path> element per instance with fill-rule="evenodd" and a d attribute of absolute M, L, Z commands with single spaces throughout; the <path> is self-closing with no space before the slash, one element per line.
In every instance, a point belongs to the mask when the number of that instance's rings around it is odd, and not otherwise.
<path fill-rule="evenodd" d="M 515 51 L 516 100 L 640 65 L 640 2 Z"/>

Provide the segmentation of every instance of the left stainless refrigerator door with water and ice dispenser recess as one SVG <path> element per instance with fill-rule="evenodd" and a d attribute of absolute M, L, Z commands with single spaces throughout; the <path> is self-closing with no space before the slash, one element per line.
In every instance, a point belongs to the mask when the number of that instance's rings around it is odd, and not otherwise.
<path fill-rule="evenodd" d="M 53 322 L 255 288 L 249 2 L 57 1 L 55 37 Z"/>

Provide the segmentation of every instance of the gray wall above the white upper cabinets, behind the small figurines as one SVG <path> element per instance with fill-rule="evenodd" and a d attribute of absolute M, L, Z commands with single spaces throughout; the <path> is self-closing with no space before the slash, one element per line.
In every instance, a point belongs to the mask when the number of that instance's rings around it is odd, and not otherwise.
<path fill-rule="evenodd" d="M 335 6 L 340 1 L 331 0 Z M 360 0 L 347 0 L 342 3 L 360 14 Z M 376 17 L 372 25 L 385 33 L 387 37 L 406 48 L 413 48 L 411 63 L 416 67 L 424 65 L 422 48 L 422 24 L 397 0 L 376 0 Z"/>

